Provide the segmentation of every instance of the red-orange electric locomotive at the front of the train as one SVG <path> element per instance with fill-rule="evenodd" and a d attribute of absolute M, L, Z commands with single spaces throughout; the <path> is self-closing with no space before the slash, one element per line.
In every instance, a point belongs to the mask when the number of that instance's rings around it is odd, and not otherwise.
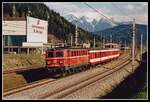
<path fill-rule="evenodd" d="M 60 74 L 86 68 L 89 63 L 87 49 L 57 49 L 46 51 L 46 67 L 49 72 Z"/>

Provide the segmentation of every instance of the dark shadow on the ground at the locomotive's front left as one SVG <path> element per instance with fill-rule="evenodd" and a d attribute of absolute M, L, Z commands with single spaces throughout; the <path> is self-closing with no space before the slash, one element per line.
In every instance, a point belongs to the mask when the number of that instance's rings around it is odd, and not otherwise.
<path fill-rule="evenodd" d="M 17 72 L 17 74 L 21 74 L 27 83 L 49 78 L 57 79 L 57 77 L 55 77 L 52 73 L 48 73 L 46 68 L 31 69 Z"/>

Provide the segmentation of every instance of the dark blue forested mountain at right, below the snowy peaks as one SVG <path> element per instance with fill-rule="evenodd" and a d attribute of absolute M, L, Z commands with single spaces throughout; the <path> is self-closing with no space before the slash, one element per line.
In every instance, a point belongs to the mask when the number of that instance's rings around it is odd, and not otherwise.
<path fill-rule="evenodd" d="M 132 24 L 120 24 L 113 28 L 105 29 L 102 31 L 93 32 L 94 35 L 100 38 L 104 37 L 109 40 L 112 35 L 112 40 L 117 42 L 120 40 L 122 43 L 131 43 L 132 38 Z M 136 43 L 140 45 L 141 34 L 143 34 L 143 43 L 146 45 L 147 41 L 147 25 L 136 24 Z"/>

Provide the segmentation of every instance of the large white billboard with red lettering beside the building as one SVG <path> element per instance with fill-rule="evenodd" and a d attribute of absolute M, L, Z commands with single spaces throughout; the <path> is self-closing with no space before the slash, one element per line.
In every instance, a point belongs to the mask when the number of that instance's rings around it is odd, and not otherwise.
<path fill-rule="evenodd" d="M 27 16 L 27 42 L 47 43 L 48 21 Z"/>

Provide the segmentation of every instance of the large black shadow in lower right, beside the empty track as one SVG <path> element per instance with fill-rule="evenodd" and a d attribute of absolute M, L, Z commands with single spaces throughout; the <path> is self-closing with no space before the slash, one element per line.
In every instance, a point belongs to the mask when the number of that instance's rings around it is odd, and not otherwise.
<path fill-rule="evenodd" d="M 143 54 L 139 68 L 118 85 L 111 93 L 101 99 L 132 99 L 147 84 L 147 53 Z"/>

